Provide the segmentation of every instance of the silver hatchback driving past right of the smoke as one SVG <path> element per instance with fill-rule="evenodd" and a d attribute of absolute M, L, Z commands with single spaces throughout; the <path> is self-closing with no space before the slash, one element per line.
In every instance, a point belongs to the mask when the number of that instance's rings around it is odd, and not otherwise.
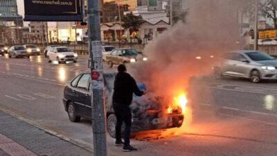
<path fill-rule="evenodd" d="M 232 51 L 226 53 L 221 66 L 214 68 L 215 76 L 250 78 L 251 82 L 277 80 L 276 58 L 260 51 Z"/>

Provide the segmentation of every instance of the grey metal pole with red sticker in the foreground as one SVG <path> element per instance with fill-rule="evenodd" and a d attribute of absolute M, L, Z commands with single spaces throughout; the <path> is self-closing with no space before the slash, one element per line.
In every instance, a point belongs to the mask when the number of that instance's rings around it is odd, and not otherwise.
<path fill-rule="evenodd" d="M 91 119 L 93 131 L 93 154 L 107 155 L 106 110 L 103 94 L 102 44 L 100 35 L 99 0 L 88 0 L 89 58 L 91 69 Z"/>

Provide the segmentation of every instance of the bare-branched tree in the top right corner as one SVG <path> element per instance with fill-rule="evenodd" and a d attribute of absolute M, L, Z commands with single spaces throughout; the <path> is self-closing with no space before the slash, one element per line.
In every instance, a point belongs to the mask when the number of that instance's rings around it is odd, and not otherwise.
<path fill-rule="evenodd" d="M 274 21 L 274 28 L 277 29 L 277 1 L 264 0 L 260 2 L 262 16 Z"/>

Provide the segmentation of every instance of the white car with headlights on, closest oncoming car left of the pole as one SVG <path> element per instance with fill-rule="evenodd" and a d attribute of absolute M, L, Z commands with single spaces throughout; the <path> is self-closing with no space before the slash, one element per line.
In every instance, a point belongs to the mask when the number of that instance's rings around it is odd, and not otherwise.
<path fill-rule="evenodd" d="M 52 47 L 47 52 L 48 62 L 57 61 L 58 63 L 73 61 L 77 62 L 78 55 L 66 46 Z"/>

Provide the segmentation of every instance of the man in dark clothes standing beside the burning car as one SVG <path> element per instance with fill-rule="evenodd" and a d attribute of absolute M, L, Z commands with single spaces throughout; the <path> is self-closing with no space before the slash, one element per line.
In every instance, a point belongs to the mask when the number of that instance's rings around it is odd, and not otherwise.
<path fill-rule="evenodd" d="M 118 66 L 118 73 L 114 81 L 113 107 L 116 113 L 116 146 L 123 145 L 123 151 L 129 152 L 137 150 L 130 146 L 130 135 L 132 125 L 132 112 L 129 105 L 132 103 L 133 93 L 136 96 L 142 96 L 143 91 L 140 91 L 136 85 L 136 81 L 129 73 L 126 72 L 125 65 Z M 121 140 L 121 125 L 125 123 L 124 143 Z"/>

